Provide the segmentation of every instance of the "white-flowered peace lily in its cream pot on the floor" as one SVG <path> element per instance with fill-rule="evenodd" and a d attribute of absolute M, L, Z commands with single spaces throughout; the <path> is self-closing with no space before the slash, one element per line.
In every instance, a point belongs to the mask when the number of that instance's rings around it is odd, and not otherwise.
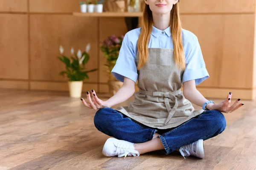
<path fill-rule="evenodd" d="M 75 57 L 71 56 L 70 57 L 71 59 L 63 55 L 64 48 L 61 45 L 59 47 L 59 51 L 62 57 L 58 57 L 58 59 L 60 59 L 66 65 L 66 71 L 61 71 L 60 75 L 64 76 L 66 74 L 67 78 L 69 78 L 68 86 L 69 86 L 70 97 L 80 98 L 81 92 L 82 92 L 83 80 L 89 79 L 87 73 L 98 70 L 98 69 L 92 69 L 92 70 L 84 71 L 85 69 L 84 65 L 89 60 L 88 52 L 90 51 L 90 44 L 87 44 L 84 52 L 82 52 L 81 50 L 78 50 L 77 54 L 74 54 L 74 48 L 71 48 L 71 54 L 75 56 Z"/>

